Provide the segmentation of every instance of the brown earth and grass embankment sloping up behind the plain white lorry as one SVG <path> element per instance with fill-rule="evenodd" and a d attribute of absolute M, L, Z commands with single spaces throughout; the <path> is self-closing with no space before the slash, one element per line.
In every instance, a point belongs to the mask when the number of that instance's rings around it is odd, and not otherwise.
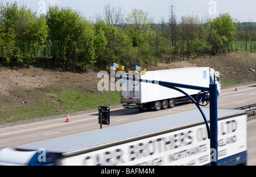
<path fill-rule="evenodd" d="M 250 52 L 228 53 L 226 56 L 198 57 L 157 66 L 146 65 L 147 70 L 209 66 L 222 75 L 222 87 L 255 83 L 256 54 Z M 118 91 L 100 92 L 96 68 L 86 73 L 61 70 L 0 68 L 0 125 L 13 125 L 22 121 L 38 121 L 42 117 L 82 113 L 98 106 L 120 106 Z"/>

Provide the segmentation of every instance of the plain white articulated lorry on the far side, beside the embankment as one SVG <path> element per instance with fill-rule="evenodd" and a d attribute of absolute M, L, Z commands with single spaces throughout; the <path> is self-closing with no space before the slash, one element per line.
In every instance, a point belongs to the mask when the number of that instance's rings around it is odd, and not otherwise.
<path fill-rule="evenodd" d="M 215 75 L 215 77 L 214 77 Z M 134 77 L 130 75 L 129 77 Z M 209 87 L 210 83 L 217 84 L 218 95 L 221 94 L 221 76 L 218 71 L 208 67 L 192 67 L 168 70 L 147 71 L 140 75 L 141 79 L 181 83 L 184 85 Z M 215 78 L 215 81 L 214 81 Z M 152 83 L 138 82 L 134 79 L 122 79 L 121 103 L 123 106 L 137 107 L 140 109 L 154 108 L 160 109 L 172 108 L 177 103 L 190 102 L 187 96 L 181 92 L 167 87 L 153 85 Z M 189 95 L 195 98 L 199 91 L 181 88 Z"/>

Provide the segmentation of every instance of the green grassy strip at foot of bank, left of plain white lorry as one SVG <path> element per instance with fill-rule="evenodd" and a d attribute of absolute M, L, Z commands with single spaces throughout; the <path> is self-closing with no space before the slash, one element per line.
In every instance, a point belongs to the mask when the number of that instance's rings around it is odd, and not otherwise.
<path fill-rule="evenodd" d="M 49 87 L 33 90 L 27 94 L 27 104 L 17 102 L 15 99 L 3 99 L 1 104 L 5 106 L 0 110 L 0 124 L 5 124 L 63 115 L 66 111 L 72 113 L 96 109 L 98 106 L 115 106 L 120 104 L 120 92 L 96 94 L 73 87 Z"/>

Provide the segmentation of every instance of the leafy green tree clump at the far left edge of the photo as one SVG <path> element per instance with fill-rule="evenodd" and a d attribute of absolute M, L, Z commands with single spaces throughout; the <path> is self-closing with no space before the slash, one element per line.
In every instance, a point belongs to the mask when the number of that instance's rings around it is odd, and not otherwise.
<path fill-rule="evenodd" d="M 2 57 L 30 66 L 35 60 L 36 48 L 44 43 L 47 26 L 43 18 L 37 18 L 26 5 L 16 2 L 1 5 L 0 10 L 2 40 Z"/>

